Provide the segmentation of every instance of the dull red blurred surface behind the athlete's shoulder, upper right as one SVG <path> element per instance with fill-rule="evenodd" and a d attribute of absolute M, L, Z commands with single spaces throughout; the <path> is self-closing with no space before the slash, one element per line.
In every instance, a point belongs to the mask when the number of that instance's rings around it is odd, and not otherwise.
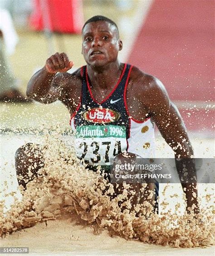
<path fill-rule="evenodd" d="M 129 62 L 155 75 L 173 100 L 214 100 L 214 0 L 154 0 Z"/>

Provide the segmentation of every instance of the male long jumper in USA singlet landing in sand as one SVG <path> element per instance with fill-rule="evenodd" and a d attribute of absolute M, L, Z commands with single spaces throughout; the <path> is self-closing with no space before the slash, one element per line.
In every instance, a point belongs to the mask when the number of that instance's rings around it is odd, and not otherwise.
<path fill-rule="evenodd" d="M 73 72 L 65 53 L 56 53 L 29 81 L 27 96 L 41 103 L 60 100 L 71 115 L 70 125 L 76 131 L 77 156 L 88 166 L 108 169 L 110 159 L 123 151 L 142 158 L 154 157 L 154 124 L 175 152 L 176 158 L 193 155 L 185 125 L 170 101 L 161 81 L 137 67 L 120 63 L 122 50 L 117 25 L 106 17 L 94 16 L 83 26 L 82 54 L 87 63 Z M 16 153 L 16 169 L 27 173 L 30 144 Z M 25 164 L 24 164 L 24 163 Z M 181 167 L 176 166 L 180 175 Z M 20 181 L 21 184 L 22 181 Z M 198 212 L 196 184 L 182 184 L 187 211 Z M 140 200 L 134 201 L 134 203 Z"/>

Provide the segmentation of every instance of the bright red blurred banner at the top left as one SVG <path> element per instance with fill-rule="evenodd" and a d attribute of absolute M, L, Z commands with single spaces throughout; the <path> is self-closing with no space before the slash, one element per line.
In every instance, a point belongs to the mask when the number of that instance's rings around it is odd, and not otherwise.
<path fill-rule="evenodd" d="M 29 25 L 39 31 L 78 34 L 83 27 L 82 0 L 34 0 Z"/>

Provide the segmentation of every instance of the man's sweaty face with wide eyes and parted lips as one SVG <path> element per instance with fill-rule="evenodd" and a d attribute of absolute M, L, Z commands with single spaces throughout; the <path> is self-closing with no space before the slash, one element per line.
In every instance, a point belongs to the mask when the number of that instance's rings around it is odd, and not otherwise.
<path fill-rule="evenodd" d="M 88 65 L 103 66 L 117 60 L 122 50 L 117 28 L 106 21 L 88 23 L 82 31 L 82 54 Z"/>

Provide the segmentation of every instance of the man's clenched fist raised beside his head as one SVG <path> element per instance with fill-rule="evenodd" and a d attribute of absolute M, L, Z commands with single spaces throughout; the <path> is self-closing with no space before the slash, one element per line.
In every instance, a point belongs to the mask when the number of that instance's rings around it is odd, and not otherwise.
<path fill-rule="evenodd" d="M 63 53 L 55 53 L 46 60 L 45 69 L 51 74 L 66 72 L 73 67 L 73 62 L 68 60 L 68 56 Z"/>

